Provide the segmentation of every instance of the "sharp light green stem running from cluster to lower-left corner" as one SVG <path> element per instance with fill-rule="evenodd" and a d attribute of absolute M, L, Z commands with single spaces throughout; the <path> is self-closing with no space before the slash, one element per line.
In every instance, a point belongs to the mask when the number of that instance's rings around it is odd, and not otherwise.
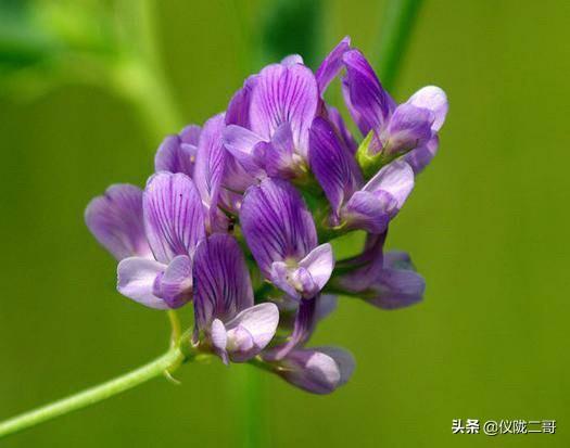
<path fill-rule="evenodd" d="M 182 353 L 178 348 L 172 348 L 154 361 L 129 373 L 1 422 L 0 438 L 118 395 L 163 374 L 182 360 Z"/>

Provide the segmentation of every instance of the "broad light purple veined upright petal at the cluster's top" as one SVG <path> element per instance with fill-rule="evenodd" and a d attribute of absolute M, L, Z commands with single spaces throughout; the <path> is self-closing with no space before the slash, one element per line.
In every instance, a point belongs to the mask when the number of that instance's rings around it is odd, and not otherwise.
<path fill-rule="evenodd" d="M 296 152 L 306 157 L 308 128 L 317 103 L 317 81 L 309 68 L 301 64 L 269 65 L 259 73 L 252 92 L 251 129 L 269 141 L 279 126 L 289 123 Z"/>

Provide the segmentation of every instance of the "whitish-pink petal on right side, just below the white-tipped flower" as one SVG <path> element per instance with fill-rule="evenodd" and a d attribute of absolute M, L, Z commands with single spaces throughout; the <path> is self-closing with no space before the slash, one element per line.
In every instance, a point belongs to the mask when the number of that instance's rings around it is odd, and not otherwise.
<path fill-rule="evenodd" d="M 407 196 L 414 189 L 414 171 L 403 161 L 394 161 L 384 166 L 363 188 L 364 191 L 378 193 L 384 191 L 390 193 L 397 203 L 400 210 Z M 392 215 L 393 216 L 393 215 Z"/>

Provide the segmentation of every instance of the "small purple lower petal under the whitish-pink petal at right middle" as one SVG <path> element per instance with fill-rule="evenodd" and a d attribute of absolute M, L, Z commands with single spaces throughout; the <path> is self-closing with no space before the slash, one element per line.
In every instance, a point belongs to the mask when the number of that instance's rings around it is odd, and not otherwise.
<path fill-rule="evenodd" d="M 397 212 L 396 200 L 385 191 L 357 191 L 342 209 L 342 220 L 349 229 L 383 233 L 392 213 Z"/>

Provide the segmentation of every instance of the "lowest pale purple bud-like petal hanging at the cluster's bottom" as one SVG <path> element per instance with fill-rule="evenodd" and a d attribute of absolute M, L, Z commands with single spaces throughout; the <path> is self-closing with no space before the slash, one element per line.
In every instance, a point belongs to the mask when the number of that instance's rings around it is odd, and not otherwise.
<path fill-rule="evenodd" d="M 341 383 L 341 370 L 329 355 L 308 348 L 291 351 L 277 373 L 289 383 L 313 394 L 330 394 Z"/>

